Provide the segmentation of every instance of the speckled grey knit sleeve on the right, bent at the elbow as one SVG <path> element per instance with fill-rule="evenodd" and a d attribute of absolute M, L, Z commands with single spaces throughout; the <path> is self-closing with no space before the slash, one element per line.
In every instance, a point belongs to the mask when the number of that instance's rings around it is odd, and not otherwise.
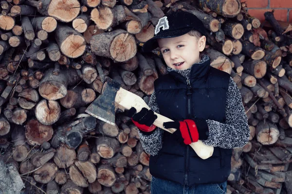
<path fill-rule="evenodd" d="M 243 147 L 249 141 L 250 130 L 236 83 L 230 78 L 226 97 L 226 123 L 207 120 L 209 136 L 202 142 L 221 148 Z"/>

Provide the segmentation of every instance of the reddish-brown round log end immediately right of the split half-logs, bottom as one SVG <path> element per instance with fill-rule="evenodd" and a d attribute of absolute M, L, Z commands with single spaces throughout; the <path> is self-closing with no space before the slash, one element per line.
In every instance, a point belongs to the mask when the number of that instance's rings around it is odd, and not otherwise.
<path fill-rule="evenodd" d="M 116 182 L 117 176 L 109 165 L 100 165 L 97 171 L 97 180 L 101 185 L 111 187 Z"/>

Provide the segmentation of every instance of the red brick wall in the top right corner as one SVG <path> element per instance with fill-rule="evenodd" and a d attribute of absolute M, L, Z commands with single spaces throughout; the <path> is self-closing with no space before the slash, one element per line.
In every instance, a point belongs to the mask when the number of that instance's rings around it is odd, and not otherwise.
<path fill-rule="evenodd" d="M 264 13 L 273 9 L 277 20 L 292 22 L 292 0 L 241 0 L 241 2 L 246 2 L 248 13 L 261 22 L 265 20 Z"/>

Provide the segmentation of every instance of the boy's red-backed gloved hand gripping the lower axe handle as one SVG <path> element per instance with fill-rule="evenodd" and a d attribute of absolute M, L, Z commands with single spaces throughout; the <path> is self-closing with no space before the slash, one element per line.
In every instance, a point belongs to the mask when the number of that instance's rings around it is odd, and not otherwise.
<path fill-rule="evenodd" d="M 192 142 L 198 142 L 199 132 L 195 121 L 190 119 L 185 119 L 183 121 L 171 121 L 163 123 L 164 128 L 170 129 L 175 128 L 181 131 L 183 137 L 183 143 L 186 145 Z"/>

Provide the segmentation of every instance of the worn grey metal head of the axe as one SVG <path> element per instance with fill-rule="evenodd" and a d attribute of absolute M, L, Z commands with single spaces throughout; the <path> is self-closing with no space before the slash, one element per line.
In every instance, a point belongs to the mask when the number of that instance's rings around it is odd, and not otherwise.
<path fill-rule="evenodd" d="M 111 125 L 115 125 L 114 100 L 120 87 L 119 83 L 107 77 L 103 82 L 100 95 L 87 107 L 85 112 Z"/>

